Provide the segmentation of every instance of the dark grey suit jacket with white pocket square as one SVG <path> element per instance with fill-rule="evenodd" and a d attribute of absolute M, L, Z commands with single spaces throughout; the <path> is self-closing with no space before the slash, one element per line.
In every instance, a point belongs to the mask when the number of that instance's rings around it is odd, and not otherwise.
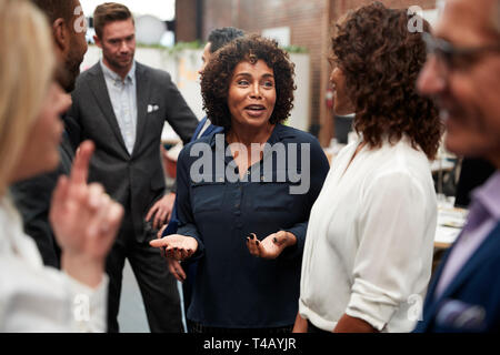
<path fill-rule="evenodd" d="M 136 239 L 144 242 L 148 239 L 146 214 L 164 194 L 166 187 L 160 156 L 164 121 L 188 143 L 198 120 L 169 73 L 140 63 L 136 65 L 138 116 L 131 155 L 114 116 L 99 63 L 79 77 L 69 115 L 79 125 L 77 141 L 89 139 L 96 143 L 89 181 L 102 183 L 107 193 L 123 206 L 130 206 L 127 212 L 132 217 Z M 148 112 L 148 106 L 158 110 Z"/>

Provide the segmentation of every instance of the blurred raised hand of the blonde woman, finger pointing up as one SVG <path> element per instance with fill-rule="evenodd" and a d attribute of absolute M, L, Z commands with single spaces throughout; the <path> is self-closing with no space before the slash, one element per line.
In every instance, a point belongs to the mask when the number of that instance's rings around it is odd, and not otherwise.
<path fill-rule="evenodd" d="M 123 207 L 102 185 L 87 184 L 94 145 L 86 141 L 70 176 L 61 176 L 52 195 L 49 219 L 62 250 L 61 264 L 74 278 L 99 284 L 103 264 L 123 216 Z"/>

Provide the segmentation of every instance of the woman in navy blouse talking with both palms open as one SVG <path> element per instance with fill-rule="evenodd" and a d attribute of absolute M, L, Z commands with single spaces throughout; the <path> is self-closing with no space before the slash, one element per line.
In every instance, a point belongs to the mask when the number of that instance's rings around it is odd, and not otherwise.
<path fill-rule="evenodd" d="M 317 139 L 282 124 L 294 70 L 276 41 L 244 37 L 212 55 L 201 90 L 223 132 L 181 151 L 178 234 L 151 245 L 199 261 L 191 332 L 291 332 L 309 213 L 328 160 Z"/>

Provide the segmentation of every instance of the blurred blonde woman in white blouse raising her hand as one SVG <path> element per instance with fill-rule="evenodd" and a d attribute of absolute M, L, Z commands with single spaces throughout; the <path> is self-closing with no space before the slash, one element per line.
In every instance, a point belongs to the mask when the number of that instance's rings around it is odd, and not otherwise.
<path fill-rule="evenodd" d="M 59 115 L 71 100 L 54 65 L 46 18 L 29 1 L 0 0 L 0 332 L 106 331 L 104 260 L 123 210 L 86 182 L 93 144 L 81 145 L 52 199 L 62 272 L 43 266 L 8 193 L 59 162 Z"/>

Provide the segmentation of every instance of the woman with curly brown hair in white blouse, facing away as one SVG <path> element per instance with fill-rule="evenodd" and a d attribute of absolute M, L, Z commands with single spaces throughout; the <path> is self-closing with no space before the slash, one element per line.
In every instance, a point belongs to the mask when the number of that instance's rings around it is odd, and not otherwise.
<path fill-rule="evenodd" d="M 442 129 L 416 90 L 426 45 L 410 19 L 374 2 L 332 40 L 334 109 L 356 112 L 359 140 L 334 159 L 311 211 L 296 332 L 409 332 L 419 316 L 437 223 L 429 160 Z"/>

